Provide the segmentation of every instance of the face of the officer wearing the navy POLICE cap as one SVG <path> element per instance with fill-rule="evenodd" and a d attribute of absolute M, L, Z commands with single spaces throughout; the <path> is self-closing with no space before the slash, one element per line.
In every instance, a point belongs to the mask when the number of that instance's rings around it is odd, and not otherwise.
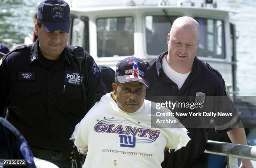
<path fill-rule="evenodd" d="M 35 24 L 36 36 L 38 36 L 40 51 L 47 59 L 58 59 L 61 52 L 64 50 L 67 41 L 68 33 L 64 31 L 54 31 L 47 33 L 44 26 L 41 28 Z"/>

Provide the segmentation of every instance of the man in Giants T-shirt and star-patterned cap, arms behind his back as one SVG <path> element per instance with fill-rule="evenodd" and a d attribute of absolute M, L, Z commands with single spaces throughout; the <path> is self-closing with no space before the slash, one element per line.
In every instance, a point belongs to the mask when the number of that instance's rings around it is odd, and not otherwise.
<path fill-rule="evenodd" d="M 71 138 L 80 153 L 87 153 L 83 168 L 161 168 L 165 148 L 178 150 L 187 144 L 182 125 L 151 127 L 147 87 L 147 66 L 141 59 L 118 62 L 113 92 L 90 109 Z"/>

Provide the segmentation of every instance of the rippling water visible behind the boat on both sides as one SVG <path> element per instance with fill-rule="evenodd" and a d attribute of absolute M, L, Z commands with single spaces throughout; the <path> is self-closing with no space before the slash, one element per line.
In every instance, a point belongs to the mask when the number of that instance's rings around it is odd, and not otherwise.
<path fill-rule="evenodd" d="M 0 41 L 23 43 L 33 31 L 32 15 L 40 0 L 1 0 Z M 256 0 L 219 0 L 218 7 L 239 12 L 231 16 L 236 24 L 238 87 L 241 96 L 256 96 Z"/>

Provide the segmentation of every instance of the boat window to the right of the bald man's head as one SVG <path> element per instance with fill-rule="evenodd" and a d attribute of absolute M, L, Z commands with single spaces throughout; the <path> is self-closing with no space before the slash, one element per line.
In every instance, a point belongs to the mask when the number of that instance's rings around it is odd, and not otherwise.
<path fill-rule="evenodd" d="M 197 56 L 225 58 L 225 34 L 223 20 L 195 18 L 200 26 L 200 43 Z"/>

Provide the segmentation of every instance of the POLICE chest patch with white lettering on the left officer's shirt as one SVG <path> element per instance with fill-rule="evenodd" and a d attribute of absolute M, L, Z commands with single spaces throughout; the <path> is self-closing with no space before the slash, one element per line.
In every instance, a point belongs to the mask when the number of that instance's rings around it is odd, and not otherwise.
<path fill-rule="evenodd" d="M 82 74 L 82 78 L 81 78 L 79 72 L 65 71 L 64 84 L 72 84 L 72 85 L 79 86 L 80 81 L 83 81 L 83 76 L 84 75 Z"/>

